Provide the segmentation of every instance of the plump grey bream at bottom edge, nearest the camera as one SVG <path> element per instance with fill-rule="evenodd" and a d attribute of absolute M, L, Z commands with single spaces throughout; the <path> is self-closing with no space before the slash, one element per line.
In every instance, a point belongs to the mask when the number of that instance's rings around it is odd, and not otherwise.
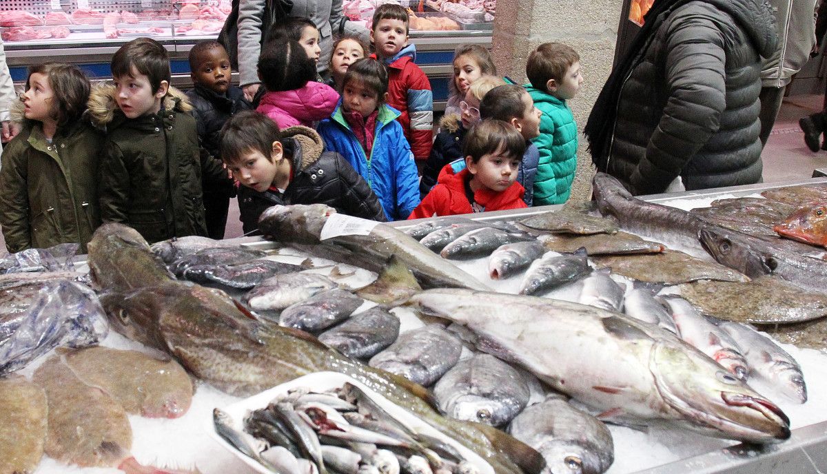
<path fill-rule="evenodd" d="M 606 425 L 559 395 L 524 409 L 509 425 L 509 433 L 543 454 L 547 472 L 600 474 L 614 462 Z"/>

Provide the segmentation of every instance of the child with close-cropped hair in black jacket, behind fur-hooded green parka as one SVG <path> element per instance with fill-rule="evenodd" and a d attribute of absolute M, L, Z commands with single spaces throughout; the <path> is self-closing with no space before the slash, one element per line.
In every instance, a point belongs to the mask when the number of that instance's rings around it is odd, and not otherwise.
<path fill-rule="evenodd" d="M 251 105 L 241 89 L 230 84 L 230 58 L 218 41 L 196 43 L 189 50 L 189 70 L 195 88 L 187 91 L 187 98 L 193 104 L 198 145 L 209 156 L 218 158 L 218 132 L 224 122 L 234 113 L 249 110 Z M 227 176 L 214 183 L 203 181 L 202 185 L 207 235 L 222 239 L 236 187 Z"/>

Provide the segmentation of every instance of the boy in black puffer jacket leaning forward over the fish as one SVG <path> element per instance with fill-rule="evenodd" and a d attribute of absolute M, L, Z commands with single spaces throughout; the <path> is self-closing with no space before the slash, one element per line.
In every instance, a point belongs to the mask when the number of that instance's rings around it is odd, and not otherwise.
<path fill-rule="evenodd" d="M 325 203 L 359 218 L 385 221 L 370 186 L 338 153 L 323 151 L 312 128 L 279 132 L 269 118 L 253 112 L 231 117 L 221 132 L 221 156 L 242 184 L 238 207 L 244 233 L 275 204 Z"/>

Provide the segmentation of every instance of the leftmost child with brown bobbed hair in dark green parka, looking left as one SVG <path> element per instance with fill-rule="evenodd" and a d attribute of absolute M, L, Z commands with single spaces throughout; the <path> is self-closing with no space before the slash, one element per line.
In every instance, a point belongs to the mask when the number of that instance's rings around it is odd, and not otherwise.
<path fill-rule="evenodd" d="M 0 224 L 10 252 L 77 242 L 100 225 L 98 165 L 103 135 L 84 117 L 89 81 L 74 65 L 33 66 L 22 131 L 2 154 Z"/>

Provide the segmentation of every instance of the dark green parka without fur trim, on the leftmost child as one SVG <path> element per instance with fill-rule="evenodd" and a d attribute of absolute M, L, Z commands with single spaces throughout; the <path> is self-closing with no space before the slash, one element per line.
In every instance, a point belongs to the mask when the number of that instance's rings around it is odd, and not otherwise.
<path fill-rule="evenodd" d="M 22 117 L 22 114 L 20 114 Z M 46 141 L 26 122 L 2 151 L 0 224 L 10 252 L 77 242 L 100 225 L 98 165 L 103 134 L 81 120 Z"/>

